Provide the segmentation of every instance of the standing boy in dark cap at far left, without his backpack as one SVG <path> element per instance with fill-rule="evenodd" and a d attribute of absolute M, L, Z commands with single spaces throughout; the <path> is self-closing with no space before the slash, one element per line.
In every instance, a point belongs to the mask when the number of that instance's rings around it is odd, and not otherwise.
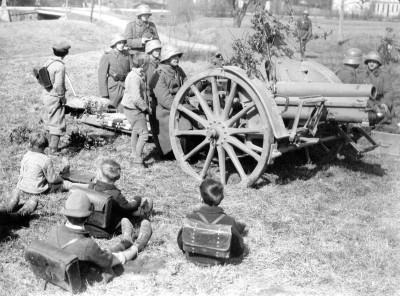
<path fill-rule="evenodd" d="M 50 154 L 57 155 L 60 137 L 65 132 L 67 124 L 65 122 L 65 65 L 64 58 L 68 54 L 71 45 L 65 41 L 53 46 L 52 56 L 44 66 L 49 72 L 52 87 L 45 88 L 41 98 L 45 107 L 43 121 L 45 130 L 50 134 L 49 148 Z"/>

